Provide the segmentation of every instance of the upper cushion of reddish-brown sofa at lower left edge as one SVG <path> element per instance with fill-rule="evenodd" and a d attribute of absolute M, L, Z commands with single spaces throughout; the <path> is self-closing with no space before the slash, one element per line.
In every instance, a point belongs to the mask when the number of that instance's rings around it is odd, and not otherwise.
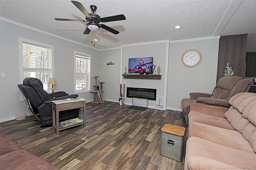
<path fill-rule="evenodd" d="M 0 135 L 0 146 L 0 155 L 12 152 L 14 150 L 22 150 L 22 147 L 2 135 Z"/>

